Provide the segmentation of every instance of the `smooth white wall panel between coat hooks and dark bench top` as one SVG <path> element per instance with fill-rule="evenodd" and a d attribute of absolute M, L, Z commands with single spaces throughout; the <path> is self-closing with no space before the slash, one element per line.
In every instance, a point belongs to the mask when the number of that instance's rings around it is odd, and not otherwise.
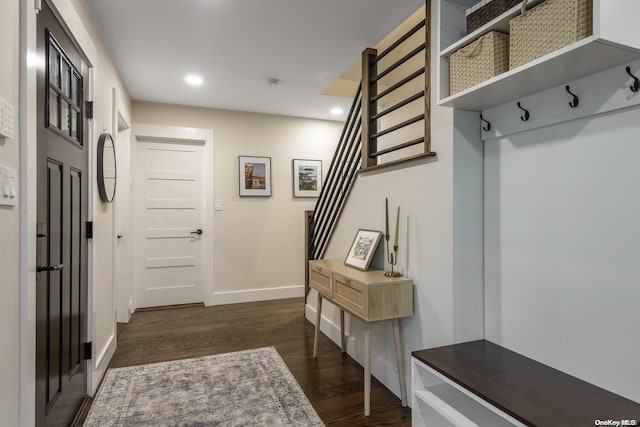
<path fill-rule="evenodd" d="M 487 339 L 635 401 L 638 117 L 485 143 Z"/>

